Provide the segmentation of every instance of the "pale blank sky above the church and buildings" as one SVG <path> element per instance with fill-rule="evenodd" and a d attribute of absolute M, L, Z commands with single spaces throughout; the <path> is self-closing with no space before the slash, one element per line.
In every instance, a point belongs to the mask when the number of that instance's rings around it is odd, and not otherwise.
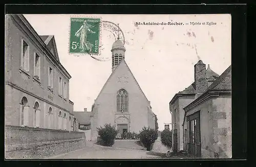
<path fill-rule="evenodd" d="M 138 81 L 159 130 L 170 123 L 169 101 L 175 93 L 194 82 L 194 65 L 201 59 L 221 75 L 231 64 L 231 15 L 24 15 L 39 35 L 54 35 L 61 64 L 72 76 L 70 100 L 74 111 L 91 106 L 111 74 L 111 61 L 97 61 L 88 55 L 69 54 L 70 17 L 101 17 L 119 23 L 124 33 L 125 61 Z M 217 25 L 135 26 L 135 22 L 213 21 Z M 149 33 L 151 32 L 151 33 Z M 153 33 L 152 33 L 153 32 Z M 194 32 L 194 36 L 193 36 Z M 189 34 L 190 33 L 190 34 Z M 153 34 L 153 35 L 152 35 Z M 114 36 L 101 31 L 101 55 L 111 57 Z M 195 47 L 196 45 L 196 47 Z"/>

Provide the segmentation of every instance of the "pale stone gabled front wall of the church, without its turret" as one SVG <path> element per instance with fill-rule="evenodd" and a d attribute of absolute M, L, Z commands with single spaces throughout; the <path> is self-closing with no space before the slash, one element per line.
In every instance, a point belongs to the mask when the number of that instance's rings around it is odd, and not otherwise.
<path fill-rule="evenodd" d="M 127 91 L 129 100 L 128 112 L 123 114 L 117 112 L 117 92 L 120 89 Z M 148 103 L 129 67 L 124 61 L 121 62 L 95 101 L 97 109 L 93 110 L 94 116 L 91 119 L 92 140 L 97 140 L 97 127 L 104 126 L 105 123 L 110 123 L 117 127 L 119 117 L 122 117 L 121 120 L 126 121 L 125 124 L 128 124 L 128 131 L 130 132 L 139 133 L 144 126 L 155 128 L 154 118 L 151 117 L 150 119 L 148 116 Z M 148 123 L 148 120 L 152 121 L 152 125 Z"/>

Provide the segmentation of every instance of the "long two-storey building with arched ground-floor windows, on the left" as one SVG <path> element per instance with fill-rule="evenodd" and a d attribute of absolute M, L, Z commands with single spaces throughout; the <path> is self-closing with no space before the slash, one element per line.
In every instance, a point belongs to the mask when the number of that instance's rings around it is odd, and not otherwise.
<path fill-rule="evenodd" d="M 6 15 L 6 125 L 73 131 L 70 78 L 53 35 L 39 36 L 21 14 Z"/>

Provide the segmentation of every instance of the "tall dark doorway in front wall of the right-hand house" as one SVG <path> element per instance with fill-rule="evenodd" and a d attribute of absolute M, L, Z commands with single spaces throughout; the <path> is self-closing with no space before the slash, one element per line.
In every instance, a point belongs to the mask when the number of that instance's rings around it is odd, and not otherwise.
<path fill-rule="evenodd" d="M 201 157 L 200 111 L 187 116 L 187 127 L 189 129 L 188 153 Z"/>

